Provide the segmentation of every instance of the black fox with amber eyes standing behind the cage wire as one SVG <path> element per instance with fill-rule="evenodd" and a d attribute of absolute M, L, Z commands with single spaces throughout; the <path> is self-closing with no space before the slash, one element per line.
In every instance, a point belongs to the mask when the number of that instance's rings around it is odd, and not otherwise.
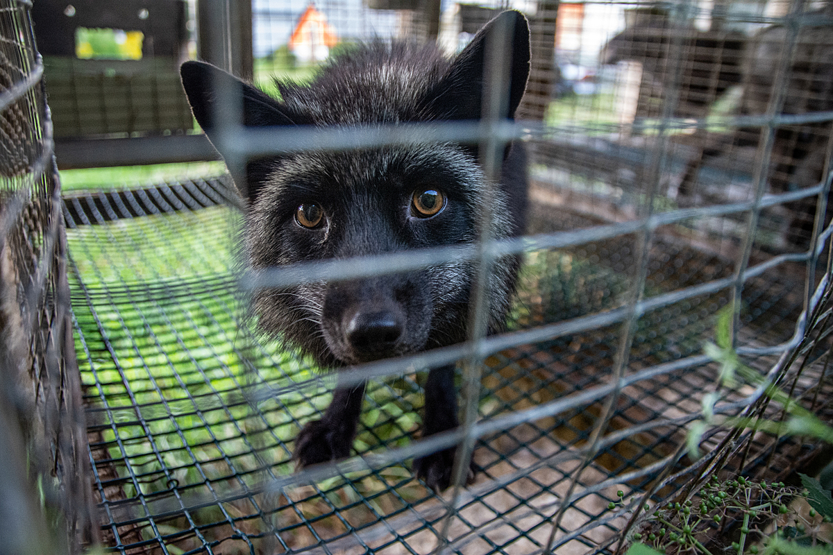
<path fill-rule="evenodd" d="M 506 29 L 503 33 L 501 29 Z M 481 117 L 486 52 L 511 50 L 505 96 L 512 118 L 529 74 L 526 18 L 503 12 L 452 61 L 436 47 L 374 42 L 329 62 L 308 85 L 278 82 L 282 100 L 202 62 L 182 64 L 182 85 L 197 121 L 217 141 L 217 84 L 242 95 L 246 126 L 362 126 Z M 491 50 L 489 51 L 491 52 Z M 245 241 L 255 269 L 308 260 L 347 259 L 477 240 L 489 214 L 491 236 L 521 233 L 526 212 L 526 156 L 520 144 L 504 152 L 501 182 L 484 194 L 476 146 L 457 143 L 305 151 L 247 162 L 234 176 L 246 201 Z M 485 210 L 491 198 L 490 210 Z M 489 330 L 500 330 L 515 289 L 519 260 L 496 260 L 488 277 Z M 422 270 L 257 291 L 258 325 L 311 354 L 325 368 L 412 354 L 466 339 L 476 265 L 454 261 Z M 301 466 L 344 458 L 356 434 L 365 385 L 338 387 L 324 417 L 299 434 L 293 457 Z M 431 369 L 425 385 L 423 436 L 457 426 L 454 365 Z M 451 478 L 454 449 L 414 461 L 435 489 Z"/>

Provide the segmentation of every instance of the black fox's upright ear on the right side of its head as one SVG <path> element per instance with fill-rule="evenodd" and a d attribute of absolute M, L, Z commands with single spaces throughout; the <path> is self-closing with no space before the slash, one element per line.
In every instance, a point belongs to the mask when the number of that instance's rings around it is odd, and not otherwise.
<path fill-rule="evenodd" d="M 515 117 L 529 77 L 529 25 L 521 12 L 509 10 L 481 28 L 426 96 L 429 110 L 442 119 L 475 120 L 482 115 L 491 57 L 509 52 L 508 91 L 503 115 Z"/>

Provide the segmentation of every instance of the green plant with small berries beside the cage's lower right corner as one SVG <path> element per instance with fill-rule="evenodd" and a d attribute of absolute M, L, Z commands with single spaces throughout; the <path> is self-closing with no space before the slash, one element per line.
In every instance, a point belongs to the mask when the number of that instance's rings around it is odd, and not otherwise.
<path fill-rule="evenodd" d="M 825 300 L 830 298 L 828 290 Z M 824 304 L 820 303 L 820 306 Z M 826 337 L 830 314 L 830 310 L 814 311 L 809 319 L 807 337 L 796 348 L 791 362 L 798 354 L 811 352 L 818 339 Z M 689 429 L 687 447 L 691 457 L 699 458 L 702 436 L 706 429 L 714 426 L 754 429 L 776 436 L 804 436 L 833 443 L 833 427 L 802 407 L 779 387 L 776 380 L 767 379 L 742 362 L 732 344 L 733 319 L 734 310 L 730 305 L 718 315 L 716 343 L 705 346 L 706 354 L 720 364 L 718 388 L 704 396 L 702 419 Z M 734 387 L 739 382 L 762 389 L 761 399 L 776 404 L 782 418 L 761 418 L 756 411 L 744 416 L 717 414 L 716 402 L 720 399 L 721 388 Z M 791 488 L 784 483 L 753 482 L 743 476 L 721 480 L 713 474 L 685 502 L 668 503 L 647 516 L 640 531 L 631 536 L 635 543 L 628 555 L 651 555 L 656 553 L 655 550 L 712 555 L 715 552 L 706 548 L 705 540 L 713 528 L 726 527 L 728 523 L 736 524 L 736 537 L 731 545 L 724 546 L 722 551 L 725 553 L 829 555 L 833 553 L 831 493 L 822 488 L 816 478 L 801 474 L 801 483 L 803 488 Z M 801 499 L 806 500 L 806 505 Z M 739 528 L 737 524 L 740 524 Z"/>

